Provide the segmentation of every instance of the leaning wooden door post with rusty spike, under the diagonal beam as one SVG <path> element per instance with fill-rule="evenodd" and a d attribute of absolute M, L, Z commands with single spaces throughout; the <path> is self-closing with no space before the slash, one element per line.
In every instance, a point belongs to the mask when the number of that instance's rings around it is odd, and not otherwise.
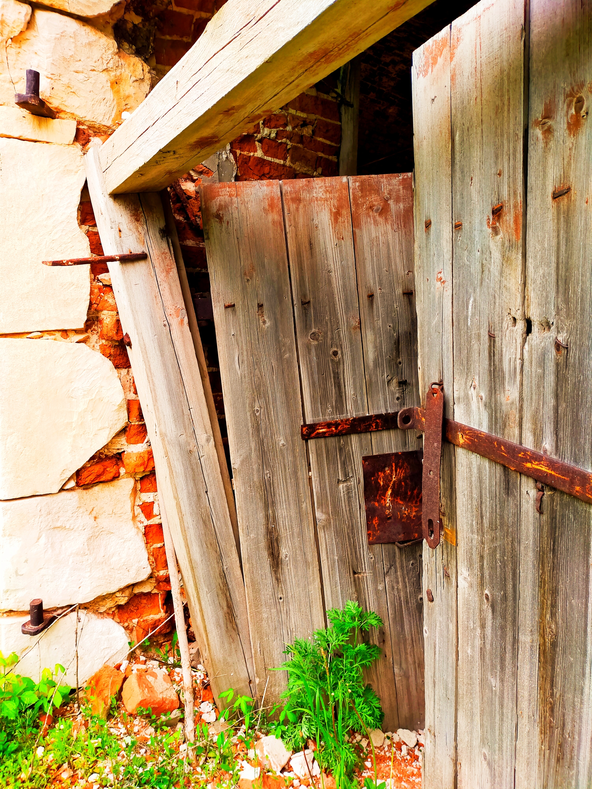
<path fill-rule="evenodd" d="M 97 149 L 84 161 L 103 248 L 148 252 L 110 273 L 204 664 L 216 695 L 251 694 L 244 585 L 161 199 L 112 198 Z"/>

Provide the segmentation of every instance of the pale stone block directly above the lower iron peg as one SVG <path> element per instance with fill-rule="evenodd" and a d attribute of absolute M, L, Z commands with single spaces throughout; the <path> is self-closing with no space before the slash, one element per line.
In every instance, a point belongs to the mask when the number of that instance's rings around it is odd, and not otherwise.
<path fill-rule="evenodd" d="M 150 574 L 125 478 L 0 502 L 0 611 L 88 603 Z"/>

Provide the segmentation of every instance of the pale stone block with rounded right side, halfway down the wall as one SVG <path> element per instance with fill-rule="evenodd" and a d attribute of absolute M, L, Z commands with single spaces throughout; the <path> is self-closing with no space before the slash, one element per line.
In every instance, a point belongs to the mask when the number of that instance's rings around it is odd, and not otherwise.
<path fill-rule="evenodd" d="M 117 372 L 77 342 L 3 338 L 0 359 L 0 499 L 57 493 L 126 424 Z"/>

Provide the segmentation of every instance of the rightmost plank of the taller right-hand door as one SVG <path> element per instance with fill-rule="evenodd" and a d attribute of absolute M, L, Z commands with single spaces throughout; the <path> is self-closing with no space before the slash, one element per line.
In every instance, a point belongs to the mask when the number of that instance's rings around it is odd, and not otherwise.
<path fill-rule="evenodd" d="M 583 469 L 592 468 L 591 13 L 590 2 L 530 3 L 531 333 L 524 347 L 523 443 Z M 532 481 L 522 477 L 521 492 L 515 785 L 589 787 L 592 508 L 547 488 L 539 515 Z"/>

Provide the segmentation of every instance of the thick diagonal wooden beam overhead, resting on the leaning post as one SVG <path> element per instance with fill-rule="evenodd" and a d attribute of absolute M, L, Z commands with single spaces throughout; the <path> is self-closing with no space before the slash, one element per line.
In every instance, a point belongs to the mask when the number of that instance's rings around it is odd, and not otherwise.
<path fill-rule="evenodd" d="M 155 192 L 431 0 L 229 0 L 100 150 L 108 193 Z"/>

